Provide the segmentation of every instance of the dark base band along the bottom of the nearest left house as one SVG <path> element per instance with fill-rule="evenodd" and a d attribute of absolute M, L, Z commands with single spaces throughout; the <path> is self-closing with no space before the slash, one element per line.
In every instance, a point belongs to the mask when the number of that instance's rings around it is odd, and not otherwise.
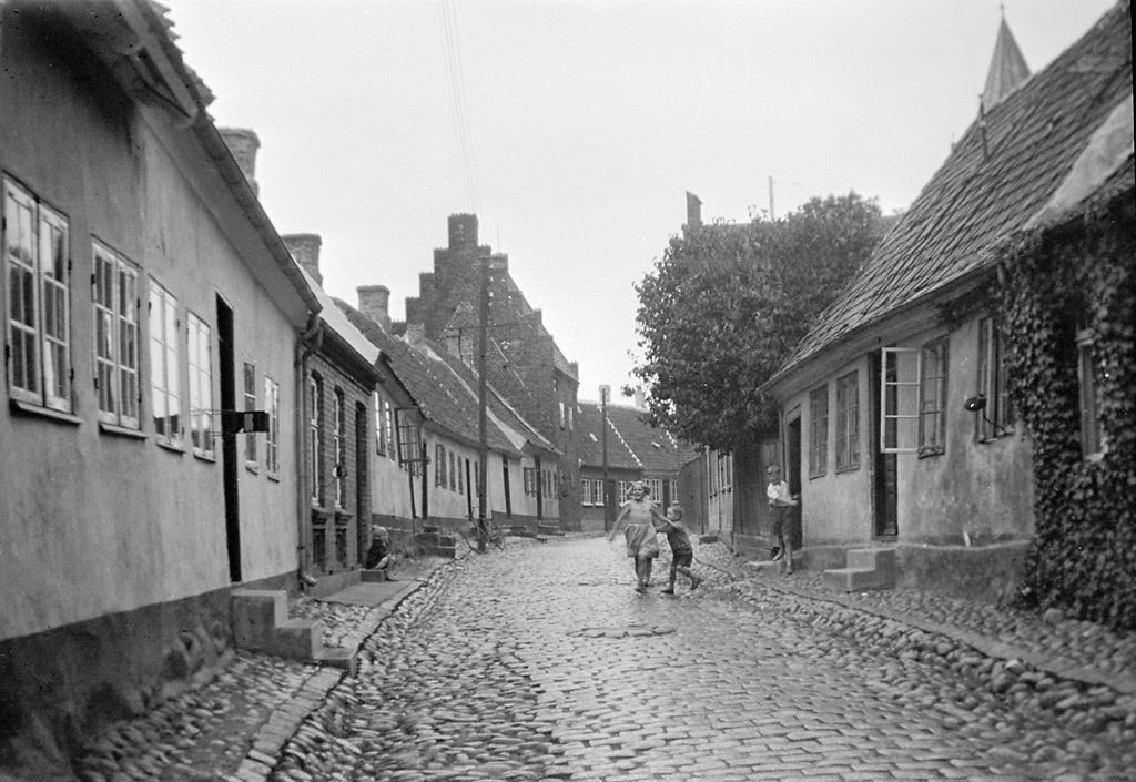
<path fill-rule="evenodd" d="M 254 584 L 294 592 L 294 571 Z M 229 589 L 0 641 L 0 768 L 66 768 L 109 724 L 212 679 L 233 658 Z"/>

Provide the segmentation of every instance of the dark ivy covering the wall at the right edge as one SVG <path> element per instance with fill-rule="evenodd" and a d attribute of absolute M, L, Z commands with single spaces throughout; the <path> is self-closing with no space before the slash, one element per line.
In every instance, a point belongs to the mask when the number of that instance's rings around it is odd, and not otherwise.
<path fill-rule="evenodd" d="M 1136 213 L 1130 185 L 999 250 L 1010 392 L 1034 443 L 1024 604 L 1136 629 Z M 1097 454 L 1083 448 L 1078 335 L 1092 339 Z M 1094 449 L 1091 449 L 1094 450 Z"/>

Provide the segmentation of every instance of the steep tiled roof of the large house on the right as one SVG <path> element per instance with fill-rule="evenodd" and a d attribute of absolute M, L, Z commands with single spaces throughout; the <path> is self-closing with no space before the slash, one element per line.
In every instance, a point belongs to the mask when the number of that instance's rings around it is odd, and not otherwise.
<path fill-rule="evenodd" d="M 1064 181 L 1086 142 L 1131 97 L 1131 17 L 1121 0 L 1044 70 L 976 119 L 943 167 L 822 313 L 777 377 L 826 347 L 989 267 Z"/>

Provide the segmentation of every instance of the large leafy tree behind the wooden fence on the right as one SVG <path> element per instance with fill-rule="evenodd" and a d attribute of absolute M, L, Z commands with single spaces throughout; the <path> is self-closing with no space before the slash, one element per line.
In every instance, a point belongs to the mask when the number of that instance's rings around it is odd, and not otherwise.
<path fill-rule="evenodd" d="M 635 285 L 651 423 L 732 451 L 772 432 L 761 386 L 871 255 L 875 199 L 813 198 L 784 218 L 703 225 L 674 236 Z"/>

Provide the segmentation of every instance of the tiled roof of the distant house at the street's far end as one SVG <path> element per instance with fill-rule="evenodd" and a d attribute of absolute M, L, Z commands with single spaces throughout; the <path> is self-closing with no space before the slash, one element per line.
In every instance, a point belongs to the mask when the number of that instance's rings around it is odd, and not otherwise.
<path fill-rule="evenodd" d="M 579 404 L 577 440 L 584 465 L 603 464 L 603 440 L 599 402 Z M 608 405 L 608 466 L 641 468 L 645 474 L 677 473 L 693 449 L 676 442 L 663 429 L 643 422 L 635 407 Z"/>

